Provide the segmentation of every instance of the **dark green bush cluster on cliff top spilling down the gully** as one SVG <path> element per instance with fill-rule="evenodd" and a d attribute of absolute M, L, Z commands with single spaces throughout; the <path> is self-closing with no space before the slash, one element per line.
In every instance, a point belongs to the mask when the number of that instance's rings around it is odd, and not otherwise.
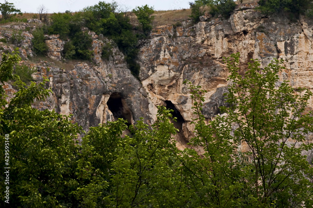
<path fill-rule="evenodd" d="M 151 8 L 144 6 L 137 8 L 140 21 L 145 33 L 151 29 Z M 136 10 L 136 11 L 137 11 Z M 64 46 L 64 58 L 77 58 L 90 60 L 92 40 L 87 33 L 83 33 L 83 27 L 89 28 L 95 33 L 103 34 L 115 41 L 119 49 L 125 54 L 126 62 L 135 76 L 139 74 L 139 65 L 136 64 L 138 53 L 138 37 L 132 31 L 128 16 L 121 12 L 116 2 L 98 4 L 84 8 L 82 11 L 72 14 L 54 13 L 51 16 L 51 25 L 48 27 L 49 34 L 60 34 L 60 38 L 67 41 Z M 104 55 L 105 56 L 105 55 Z"/>

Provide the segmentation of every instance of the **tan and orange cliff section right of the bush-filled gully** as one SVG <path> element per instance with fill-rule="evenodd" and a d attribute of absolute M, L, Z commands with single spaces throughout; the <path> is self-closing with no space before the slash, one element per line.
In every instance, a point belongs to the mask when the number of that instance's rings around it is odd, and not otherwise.
<path fill-rule="evenodd" d="M 167 26 L 151 33 L 151 39 L 141 48 L 142 84 L 153 104 L 171 101 L 179 110 L 185 121 L 185 138 L 193 136 L 193 115 L 190 94 L 182 82 L 190 80 L 208 91 L 204 94 L 203 114 L 211 119 L 220 113 L 218 107 L 225 105 L 223 93 L 227 90 L 228 72 L 222 58 L 231 53 L 241 53 L 242 68 L 251 58 L 261 60 L 262 66 L 273 58 L 281 58 L 287 69 L 280 73 L 280 79 L 290 80 L 295 88 L 313 91 L 312 20 L 301 17 L 292 22 L 281 15 L 266 17 L 255 11 L 255 6 L 239 5 L 229 19 L 204 20 L 194 25 L 185 21 L 184 27 L 176 30 Z M 178 32 L 186 35 L 175 35 Z M 307 154 L 311 160 L 313 153 Z"/>

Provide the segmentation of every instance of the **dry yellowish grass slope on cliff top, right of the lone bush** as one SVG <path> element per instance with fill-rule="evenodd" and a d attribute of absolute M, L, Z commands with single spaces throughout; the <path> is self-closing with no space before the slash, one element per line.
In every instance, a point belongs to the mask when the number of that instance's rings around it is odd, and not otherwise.
<path fill-rule="evenodd" d="M 154 18 L 152 26 L 153 28 L 160 28 L 163 25 L 174 24 L 177 21 L 190 19 L 188 17 L 190 14 L 191 14 L 191 9 L 156 11 L 153 14 L 155 18 Z"/>

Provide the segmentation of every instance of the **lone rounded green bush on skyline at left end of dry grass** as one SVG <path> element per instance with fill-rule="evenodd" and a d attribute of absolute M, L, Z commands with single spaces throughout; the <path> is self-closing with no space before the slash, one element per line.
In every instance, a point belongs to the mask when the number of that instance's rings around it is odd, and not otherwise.
<path fill-rule="evenodd" d="M 132 10 L 134 14 L 136 14 L 138 21 L 141 25 L 142 31 L 145 34 L 150 33 L 152 29 L 152 22 L 154 19 L 154 16 L 152 14 L 154 13 L 154 8 L 149 7 L 147 4 L 141 7 L 136 7 Z"/>

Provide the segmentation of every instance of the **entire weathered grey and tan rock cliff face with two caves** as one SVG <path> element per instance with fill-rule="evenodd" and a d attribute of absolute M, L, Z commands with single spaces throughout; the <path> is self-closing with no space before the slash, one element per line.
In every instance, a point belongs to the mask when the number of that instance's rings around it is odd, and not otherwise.
<path fill-rule="evenodd" d="M 104 43 L 89 32 L 94 39 L 95 65 L 75 63 L 71 69 L 62 69 L 49 66 L 49 62 L 34 64 L 38 71 L 34 77 L 49 76 L 53 89 L 53 95 L 36 106 L 73 114 L 73 120 L 87 129 L 119 117 L 129 124 L 143 117 L 151 124 L 156 118 L 156 106 L 166 105 L 175 110 L 175 126 L 180 129 L 176 140 L 184 148 L 193 136 L 193 115 L 192 101 L 182 82 L 188 79 L 208 91 L 203 114 L 211 119 L 224 105 L 228 72 L 222 58 L 231 53 L 241 53 L 242 68 L 251 58 L 260 59 L 263 66 L 273 58 L 282 58 L 287 69 L 280 73 L 280 79 L 290 80 L 294 87 L 313 90 L 313 20 L 301 17 L 291 22 L 281 15 L 266 17 L 255 11 L 255 6 L 240 5 L 229 19 L 209 21 L 203 17 L 204 22 L 197 24 L 187 20 L 182 26 L 153 30 L 140 48 L 140 81 L 131 75 L 117 47 L 110 60 L 102 60 Z M 2 30 L 0 35 L 6 38 L 9 32 Z M 47 37 L 46 43 L 50 48 L 48 56 L 61 60 L 64 42 Z M 20 50 L 25 50 L 22 53 L 26 57 L 33 54 L 29 45 Z M 7 88 L 14 91 L 10 85 Z M 309 107 L 313 107 L 313 99 Z M 313 142 L 312 136 L 307 142 Z M 311 160 L 313 153 L 306 154 Z"/>

